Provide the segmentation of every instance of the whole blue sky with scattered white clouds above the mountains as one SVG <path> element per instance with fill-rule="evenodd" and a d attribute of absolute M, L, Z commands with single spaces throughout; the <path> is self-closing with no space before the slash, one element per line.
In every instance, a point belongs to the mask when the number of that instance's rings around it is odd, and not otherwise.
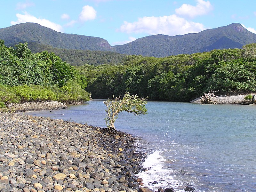
<path fill-rule="evenodd" d="M 0 0 L 0 28 L 33 22 L 110 45 L 240 23 L 256 33 L 256 0 Z"/>

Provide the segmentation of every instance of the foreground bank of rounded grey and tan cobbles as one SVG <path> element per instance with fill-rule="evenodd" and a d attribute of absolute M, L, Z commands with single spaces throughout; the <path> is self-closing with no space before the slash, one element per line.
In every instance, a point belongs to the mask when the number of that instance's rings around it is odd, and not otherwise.
<path fill-rule="evenodd" d="M 139 191 L 145 154 L 130 135 L 16 113 L 0 120 L 0 191 Z"/>

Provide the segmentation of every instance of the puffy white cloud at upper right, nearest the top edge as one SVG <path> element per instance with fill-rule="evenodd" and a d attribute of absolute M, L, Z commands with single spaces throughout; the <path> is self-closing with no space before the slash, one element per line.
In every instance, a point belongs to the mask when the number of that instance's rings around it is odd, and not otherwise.
<path fill-rule="evenodd" d="M 184 15 L 194 18 L 197 15 L 205 15 L 212 10 L 210 1 L 197 0 L 196 6 L 189 4 L 182 4 L 180 8 L 175 9 L 178 15 Z"/>

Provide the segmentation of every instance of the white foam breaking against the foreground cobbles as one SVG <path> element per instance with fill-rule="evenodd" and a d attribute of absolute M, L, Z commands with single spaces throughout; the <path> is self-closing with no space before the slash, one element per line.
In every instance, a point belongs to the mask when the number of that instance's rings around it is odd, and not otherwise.
<path fill-rule="evenodd" d="M 160 151 L 154 151 L 152 154 L 148 155 L 145 159 L 145 162 L 142 164 L 144 168 L 147 168 L 148 171 L 140 172 L 136 176 L 143 179 L 145 184 L 142 187 L 148 187 L 153 190 L 158 188 L 174 188 L 177 192 L 182 192 L 184 187 L 182 183 L 178 180 L 175 180 L 171 175 L 175 172 L 171 169 L 164 168 L 164 159 L 161 156 Z M 158 184 L 152 185 L 152 182 L 157 181 Z"/>

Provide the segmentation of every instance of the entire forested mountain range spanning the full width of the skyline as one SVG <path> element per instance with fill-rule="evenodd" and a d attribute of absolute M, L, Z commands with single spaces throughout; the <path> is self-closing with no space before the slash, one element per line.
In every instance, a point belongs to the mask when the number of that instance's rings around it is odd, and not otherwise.
<path fill-rule="evenodd" d="M 239 23 L 199 33 L 167 36 L 153 35 L 139 38 L 124 45 L 110 46 L 99 37 L 65 34 L 36 23 L 20 23 L 0 29 L 0 39 L 5 45 L 13 46 L 19 42 L 34 42 L 62 49 L 91 51 L 112 51 L 129 55 L 165 57 L 178 54 L 192 54 L 213 49 L 242 48 L 245 44 L 256 43 L 256 34 L 246 30 Z"/>

